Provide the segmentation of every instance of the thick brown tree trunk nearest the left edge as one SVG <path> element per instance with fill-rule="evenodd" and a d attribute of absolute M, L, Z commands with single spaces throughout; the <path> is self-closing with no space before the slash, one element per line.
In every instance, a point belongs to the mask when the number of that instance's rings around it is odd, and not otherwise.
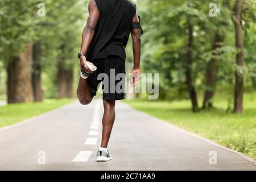
<path fill-rule="evenodd" d="M 32 102 L 31 84 L 32 44 L 7 63 L 7 102 Z"/>

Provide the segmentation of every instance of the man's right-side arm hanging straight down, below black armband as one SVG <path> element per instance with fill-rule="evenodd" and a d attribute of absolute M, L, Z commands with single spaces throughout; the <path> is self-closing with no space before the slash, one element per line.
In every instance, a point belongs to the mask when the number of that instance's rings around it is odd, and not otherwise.
<path fill-rule="evenodd" d="M 133 23 L 139 22 L 137 13 L 133 18 Z M 131 38 L 133 39 L 133 72 L 131 86 L 135 86 L 139 82 L 139 64 L 141 62 L 141 30 L 140 28 L 134 28 L 131 30 Z"/>

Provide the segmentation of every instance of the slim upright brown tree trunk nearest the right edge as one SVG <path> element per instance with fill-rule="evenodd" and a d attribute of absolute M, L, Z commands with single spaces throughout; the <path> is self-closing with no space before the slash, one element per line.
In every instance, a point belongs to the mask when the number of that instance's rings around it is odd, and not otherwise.
<path fill-rule="evenodd" d="M 241 11 L 243 0 L 236 0 L 233 22 L 235 25 L 235 44 L 237 47 L 237 65 L 243 67 L 243 29 L 241 24 Z M 243 73 L 239 70 L 235 71 L 235 98 L 234 98 L 234 112 L 242 113 L 243 111 Z"/>

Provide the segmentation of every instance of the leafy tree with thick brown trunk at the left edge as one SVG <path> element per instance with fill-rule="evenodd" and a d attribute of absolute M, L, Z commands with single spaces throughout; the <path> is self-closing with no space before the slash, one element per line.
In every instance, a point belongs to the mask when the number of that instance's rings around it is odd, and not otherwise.
<path fill-rule="evenodd" d="M 0 59 L 7 69 L 7 101 L 31 102 L 32 42 L 34 36 L 35 1 L 1 1 Z"/>

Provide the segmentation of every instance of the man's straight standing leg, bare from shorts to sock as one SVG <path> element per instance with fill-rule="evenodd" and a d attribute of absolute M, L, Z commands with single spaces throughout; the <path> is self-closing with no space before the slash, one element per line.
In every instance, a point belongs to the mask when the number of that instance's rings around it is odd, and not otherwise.
<path fill-rule="evenodd" d="M 115 101 L 103 100 L 104 114 L 102 119 L 102 141 L 101 147 L 107 148 L 112 127 L 115 121 Z"/>

